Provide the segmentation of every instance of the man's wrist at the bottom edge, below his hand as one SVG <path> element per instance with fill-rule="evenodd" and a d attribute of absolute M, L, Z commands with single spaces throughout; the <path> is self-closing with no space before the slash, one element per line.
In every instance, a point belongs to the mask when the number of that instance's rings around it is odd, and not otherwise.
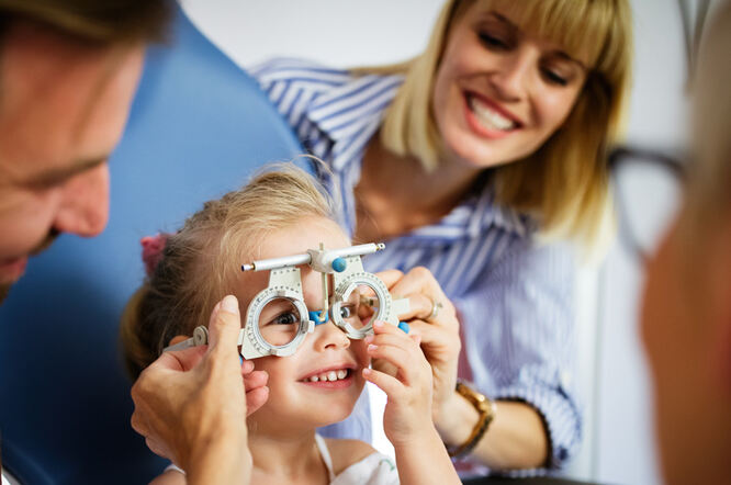
<path fill-rule="evenodd" d="M 251 477 L 251 453 L 246 436 L 220 436 L 196 443 L 185 474 L 189 485 L 247 485 Z"/>

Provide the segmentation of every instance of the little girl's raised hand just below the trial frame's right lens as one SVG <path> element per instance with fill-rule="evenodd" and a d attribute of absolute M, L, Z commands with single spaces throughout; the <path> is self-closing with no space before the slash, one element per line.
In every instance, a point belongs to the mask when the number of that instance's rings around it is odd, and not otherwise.
<path fill-rule="evenodd" d="M 419 349 L 419 337 L 381 320 L 373 323 L 373 331 L 364 339 L 369 356 L 389 362 L 396 372 L 364 369 L 363 376 L 389 396 L 383 429 L 391 443 L 411 445 L 434 429 L 424 426 L 431 420 L 431 369 Z"/>

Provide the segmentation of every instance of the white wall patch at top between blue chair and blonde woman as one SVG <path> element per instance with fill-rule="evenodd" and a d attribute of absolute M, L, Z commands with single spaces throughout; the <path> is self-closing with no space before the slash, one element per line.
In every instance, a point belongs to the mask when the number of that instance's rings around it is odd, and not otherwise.
<path fill-rule="evenodd" d="M 418 54 L 441 0 L 181 0 L 195 24 L 240 66 L 272 56 L 334 67 Z"/>

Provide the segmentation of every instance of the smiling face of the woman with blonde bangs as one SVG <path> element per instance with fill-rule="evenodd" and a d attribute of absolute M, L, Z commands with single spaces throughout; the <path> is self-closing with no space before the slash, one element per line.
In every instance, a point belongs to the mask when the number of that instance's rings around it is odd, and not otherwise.
<path fill-rule="evenodd" d="M 586 78 L 585 60 L 522 31 L 505 5 L 474 2 L 456 19 L 437 69 L 437 126 L 448 157 L 470 167 L 536 151 L 566 119 Z"/>

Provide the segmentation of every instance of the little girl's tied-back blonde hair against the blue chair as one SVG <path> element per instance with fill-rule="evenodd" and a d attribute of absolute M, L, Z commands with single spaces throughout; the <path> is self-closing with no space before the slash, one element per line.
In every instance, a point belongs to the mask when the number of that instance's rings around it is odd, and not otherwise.
<path fill-rule="evenodd" d="M 335 221 L 318 183 L 291 163 L 268 167 L 246 187 L 203 204 L 167 244 L 156 268 L 132 296 L 120 328 L 133 377 L 177 335 L 207 325 L 214 305 L 234 293 L 240 264 L 257 258 L 266 237 L 316 216 Z"/>

